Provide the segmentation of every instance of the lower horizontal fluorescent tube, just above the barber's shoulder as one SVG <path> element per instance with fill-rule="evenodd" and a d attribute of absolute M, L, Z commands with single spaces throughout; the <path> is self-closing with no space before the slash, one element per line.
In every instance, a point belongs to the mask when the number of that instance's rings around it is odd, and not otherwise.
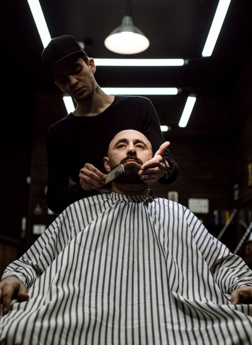
<path fill-rule="evenodd" d="M 102 87 L 107 95 L 177 95 L 175 87 Z"/>

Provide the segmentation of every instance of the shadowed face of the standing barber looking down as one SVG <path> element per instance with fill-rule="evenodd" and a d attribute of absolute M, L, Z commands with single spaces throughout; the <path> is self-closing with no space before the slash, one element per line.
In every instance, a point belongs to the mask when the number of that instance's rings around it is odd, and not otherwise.
<path fill-rule="evenodd" d="M 70 56 L 57 63 L 52 74 L 55 84 L 76 101 L 91 97 L 95 90 L 94 60 L 89 59 L 88 65 L 76 56 Z"/>

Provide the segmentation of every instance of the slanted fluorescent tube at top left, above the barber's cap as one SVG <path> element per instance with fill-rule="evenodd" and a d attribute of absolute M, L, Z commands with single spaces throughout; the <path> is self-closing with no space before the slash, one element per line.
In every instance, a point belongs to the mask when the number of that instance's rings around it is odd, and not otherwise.
<path fill-rule="evenodd" d="M 45 48 L 51 41 L 51 36 L 45 22 L 44 14 L 42 12 L 39 0 L 27 0 L 30 6 L 33 19 L 39 31 L 43 47 Z"/>

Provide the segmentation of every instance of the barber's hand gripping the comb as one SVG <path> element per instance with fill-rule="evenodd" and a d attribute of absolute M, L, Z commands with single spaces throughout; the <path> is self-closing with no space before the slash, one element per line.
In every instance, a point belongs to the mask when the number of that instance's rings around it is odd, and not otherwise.
<path fill-rule="evenodd" d="M 80 170 L 80 184 L 86 191 L 91 189 L 99 190 L 105 184 L 106 175 L 95 168 L 92 164 L 86 163 Z"/>

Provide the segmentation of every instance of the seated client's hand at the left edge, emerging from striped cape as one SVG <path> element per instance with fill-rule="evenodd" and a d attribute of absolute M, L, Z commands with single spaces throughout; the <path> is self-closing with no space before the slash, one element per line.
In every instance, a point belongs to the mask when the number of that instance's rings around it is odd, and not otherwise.
<path fill-rule="evenodd" d="M 3 315 L 9 312 L 12 298 L 18 298 L 20 302 L 29 299 L 27 288 L 14 276 L 4 278 L 0 282 L 0 303 L 3 305 Z"/>

